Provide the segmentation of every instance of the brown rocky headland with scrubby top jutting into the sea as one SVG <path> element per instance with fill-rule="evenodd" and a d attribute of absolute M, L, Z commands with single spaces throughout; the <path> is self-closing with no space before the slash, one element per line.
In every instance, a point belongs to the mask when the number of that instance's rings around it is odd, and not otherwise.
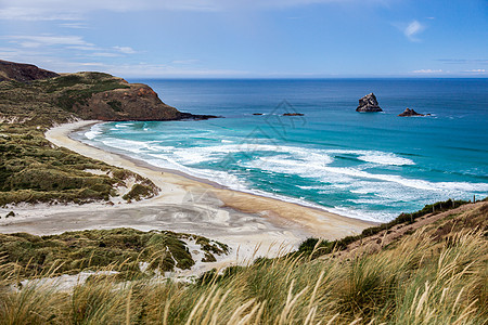
<path fill-rule="evenodd" d="M 27 67 L 22 69 L 24 66 Z M 0 76 L 10 76 L 0 82 L 0 122 L 50 126 L 74 119 L 123 121 L 216 117 L 181 113 L 165 104 L 151 87 L 129 83 L 108 74 L 60 76 L 35 66 L 9 63 L 0 64 Z"/>

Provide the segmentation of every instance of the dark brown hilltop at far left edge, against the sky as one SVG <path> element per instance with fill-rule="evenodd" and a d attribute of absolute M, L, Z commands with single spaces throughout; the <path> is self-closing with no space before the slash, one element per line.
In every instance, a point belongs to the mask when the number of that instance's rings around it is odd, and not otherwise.
<path fill-rule="evenodd" d="M 15 63 L 0 60 L 0 81 L 27 82 L 38 79 L 57 77 L 53 72 L 38 68 L 33 64 Z"/>

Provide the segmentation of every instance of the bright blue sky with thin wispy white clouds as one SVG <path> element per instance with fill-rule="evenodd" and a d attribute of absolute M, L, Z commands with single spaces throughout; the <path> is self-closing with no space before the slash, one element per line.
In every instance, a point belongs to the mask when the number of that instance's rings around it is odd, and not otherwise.
<path fill-rule="evenodd" d="M 0 60 L 125 78 L 488 77 L 488 0 L 0 0 Z"/>

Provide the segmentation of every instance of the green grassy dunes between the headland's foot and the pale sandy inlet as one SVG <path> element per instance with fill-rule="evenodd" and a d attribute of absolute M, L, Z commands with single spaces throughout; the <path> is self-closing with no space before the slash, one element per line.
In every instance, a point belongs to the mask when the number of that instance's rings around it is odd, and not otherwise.
<path fill-rule="evenodd" d="M 157 193 L 150 180 L 138 174 L 54 147 L 43 138 L 42 129 L 0 123 L 0 206 L 108 200 L 119 195 L 116 188 L 129 181 L 136 184 L 125 199 Z"/>

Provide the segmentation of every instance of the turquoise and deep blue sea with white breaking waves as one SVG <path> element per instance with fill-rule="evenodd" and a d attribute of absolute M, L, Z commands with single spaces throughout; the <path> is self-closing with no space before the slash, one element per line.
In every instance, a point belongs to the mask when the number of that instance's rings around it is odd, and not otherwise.
<path fill-rule="evenodd" d="M 368 220 L 488 195 L 488 79 L 129 81 L 182 112 L 224 118 L 107 122 L 85 141 Z M 384 113 L 356 112 L 370 92 Z M 432 116 L 398 117 L 406 107 Z M 282 116 L 295 112 L 305 116 Z"/>

